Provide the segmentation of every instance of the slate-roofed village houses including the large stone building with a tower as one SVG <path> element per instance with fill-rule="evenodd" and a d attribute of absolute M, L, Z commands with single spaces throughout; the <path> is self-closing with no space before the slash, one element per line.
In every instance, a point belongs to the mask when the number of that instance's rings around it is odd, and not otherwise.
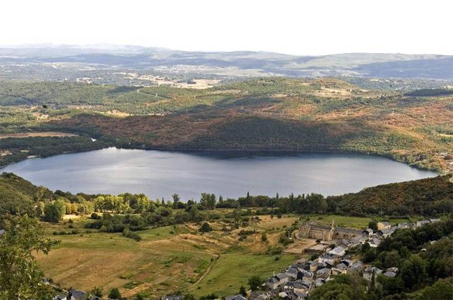
<path fill-rule="evenodd" d="M 286 270 L 273 274 L 262 284 L 261 289 L 247 292 L 247 296 L 236 294 L 225 296 L 224 300 L 271 300 L 288 299 L 304 300 L 317 287 L 334 279 L 341 274 L 357 274 L 363 276 L 368 282 L 373 277 L 382 275 L 395 277 L 397 267 L 380 270 L 377 267 L 366 265 L 364 262 L 351 255 L 351 250 L 368 243 L 371 248 L 379 246 L 380 242 L 391 236 L 396 229 L 416 229 L 426 224 L 432 224 L 440 219 L 426 219 L 415 223 L 399 223 L 392 226 L 388 221 L 377 222 L 377 230 L 373 229 L 348 229 L 336 227 L 334 221 L 331 226 L 321 226 L 315 222 L 307 222 L 300 226 L 298 233 L 293 235 L 296 240 L 316 239 L 317 243 L 303 250 L 311 254 L 310 260 L 300 258 Z M 49 282 L 45 281 L 47 284 Z M 100 297 L 90 295 L 77 289 L 63 291 L 52 300 L 101 300 Z M 169 295 L 161 300 L 184 300 L 183 295 Z"/>

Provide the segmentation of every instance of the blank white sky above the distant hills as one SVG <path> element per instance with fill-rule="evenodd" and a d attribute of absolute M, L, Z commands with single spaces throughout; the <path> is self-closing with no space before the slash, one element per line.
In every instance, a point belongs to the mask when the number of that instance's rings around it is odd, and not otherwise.
<path fill-rule="evenodd" d="M 2 1 L 0 45 L 453 54 L 453 1 Z"/>

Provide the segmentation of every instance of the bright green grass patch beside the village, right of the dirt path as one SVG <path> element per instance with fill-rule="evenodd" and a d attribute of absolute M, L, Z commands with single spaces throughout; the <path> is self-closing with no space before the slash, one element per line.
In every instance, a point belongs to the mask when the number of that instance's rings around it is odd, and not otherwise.
<path fill-rule="evenodd" d="M 280 260 L 276 261 L 276 257 Z M 295 255 L 223 254 L 216 260 L 211 272 L 190 292 L 197 297 L 211 293 L 217 296 L 237 294 L 241 285 L 248 288 L 249 277 L 259 275 L 265 279 L 273 272 L 283 271 L 295 260 Z"/>

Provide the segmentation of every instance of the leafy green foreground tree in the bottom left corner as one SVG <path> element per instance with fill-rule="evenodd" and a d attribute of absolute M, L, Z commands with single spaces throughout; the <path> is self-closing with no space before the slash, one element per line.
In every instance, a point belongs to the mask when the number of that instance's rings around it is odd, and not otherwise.
<path fill-rule="evenodd" d="M 45 238 L 37 219 L 8 217 L 0 236 L 0 300 L 51 299 L 36 253 L 49 253 L 58 242 Z"/>

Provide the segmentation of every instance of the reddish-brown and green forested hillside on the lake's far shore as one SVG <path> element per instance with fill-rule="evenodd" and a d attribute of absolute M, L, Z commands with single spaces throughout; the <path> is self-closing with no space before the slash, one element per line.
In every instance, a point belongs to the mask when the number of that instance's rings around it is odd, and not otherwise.
<path fill-rule="evenodd" d="M 329 78 L 252 79 L 204 90 L 7 81 L 0 115 L 1 165 L 120 146 L 348 151 L 453 169 L 448 88 L 404 94 Z"/>

